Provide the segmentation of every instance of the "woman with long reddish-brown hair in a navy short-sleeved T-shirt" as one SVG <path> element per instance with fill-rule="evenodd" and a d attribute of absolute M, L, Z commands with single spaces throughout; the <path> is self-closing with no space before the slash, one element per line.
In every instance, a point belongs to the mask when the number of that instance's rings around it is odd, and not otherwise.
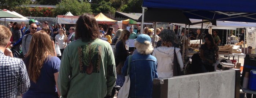
<path fill-rule="evenodd" d="M 54 56 L 52 41 L 44 30 L 37 31 L 24 59 L 30 79 L 30 88 L 22 98 L 59 98 L 57 86 L 60 59 Z"/>

